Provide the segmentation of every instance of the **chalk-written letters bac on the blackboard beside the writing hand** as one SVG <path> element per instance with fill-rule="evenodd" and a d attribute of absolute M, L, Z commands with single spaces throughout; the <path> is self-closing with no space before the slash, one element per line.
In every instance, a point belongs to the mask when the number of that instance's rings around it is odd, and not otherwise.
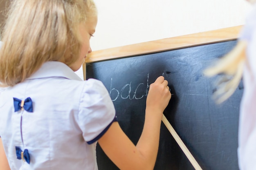
<path fill-rule="evenodd" d="M 148 73 L 148 77 L 147 77 L 147 82 L 146 84 L 144 83 L 139 83 L 137 85 L 137 87 L 135 88 L 135 91 L 132 92 L 132 82 L 130 82 L 129 84 L 126 84 L 123 86 L 123 88 L 121 88 L 121 90 L 117 90 L 116 88 L 112 87 L 112 78 L 111 78 L 111 83 L 110 83 L 110 91 L 109 91 L 109 95 L 112 99 L 112 101 L 116 101 L 119 97 L 121 97 L 122 99 L 141 99 L 144 96 L 147 97 L 148 96 L 148 89 L 149 89 L 149 85 L 148 85 L 148 78 L 149 78 L 149 73 Z M 143 94 L 139 94 L 138 91 L 143 91 Z"/>

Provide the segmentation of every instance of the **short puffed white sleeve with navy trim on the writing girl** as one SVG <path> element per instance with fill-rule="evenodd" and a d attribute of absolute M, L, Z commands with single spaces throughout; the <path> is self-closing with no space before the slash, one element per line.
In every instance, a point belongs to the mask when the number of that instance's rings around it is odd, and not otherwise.
<path fill-rule="evenodd" d="M 86 80 L 78 115 L 85 141 L 92 144 L 100 139 L 114 121 L 115 107 L 105 86 L 96 79 Z"/>

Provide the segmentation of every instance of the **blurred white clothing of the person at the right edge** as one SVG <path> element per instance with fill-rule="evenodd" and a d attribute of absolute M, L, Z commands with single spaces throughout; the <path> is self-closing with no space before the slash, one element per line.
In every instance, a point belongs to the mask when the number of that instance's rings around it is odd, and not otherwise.
<path fill-rule="evenodd" d="M 238 161 L 240 170 L 256 170 L 256 6 L 249 13 L 241 40 L 248 42 L 240 105 Z"/>

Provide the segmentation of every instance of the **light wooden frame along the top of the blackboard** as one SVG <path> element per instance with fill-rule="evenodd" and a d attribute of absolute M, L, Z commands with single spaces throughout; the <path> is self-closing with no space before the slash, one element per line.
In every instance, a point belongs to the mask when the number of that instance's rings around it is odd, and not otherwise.
<path fill-rule="evenodd" d="M 165 38 L 149 42 L 141 42 L 126 46 L 119 46 L 110 49 L 92 51 L 85 59 L 85 63 L 98 62 L 103 60 L 111 60 L 122 57 L 129 57 L 141 54 L 168 51 L 173 49 L 186 48 L 190 46 L 198 46 L 202 44 L 210 44 L 214 42 L 222 42 L 235 40 L 242 26 L 233 26 L 224 29 L 206 31 L 201 33 L 193 33 L 173 38 Z M 86 64 L 83 64 L 83 76 L 86 79 Z"/>

